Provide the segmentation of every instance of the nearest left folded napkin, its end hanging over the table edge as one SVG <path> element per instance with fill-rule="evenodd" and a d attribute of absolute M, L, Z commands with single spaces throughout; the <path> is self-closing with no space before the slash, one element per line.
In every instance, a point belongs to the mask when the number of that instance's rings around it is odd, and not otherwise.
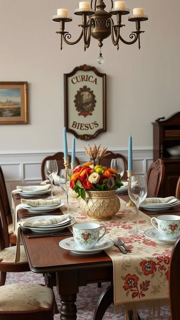
<path fill-rule="evenodd" d="M 52 218 L 52 219 L 45 219 L 43 217 L 36 221 L 30 221 L 30 220 L 26 221 L 26 219 L 21 219 L 18 223 L 16 223 L 15 234 L 17 236 L 17 245 L 16 245 L 15 263 L 20 261 L 20 227 L 33 227 L 33 226 L 37 227 L 37 226 L 56 224 L 64 220 L 67 220 L 68 218 L 72 218 L 70 213 L 62 214 L 59 216 L 57 215 L 56 218 Z"/>

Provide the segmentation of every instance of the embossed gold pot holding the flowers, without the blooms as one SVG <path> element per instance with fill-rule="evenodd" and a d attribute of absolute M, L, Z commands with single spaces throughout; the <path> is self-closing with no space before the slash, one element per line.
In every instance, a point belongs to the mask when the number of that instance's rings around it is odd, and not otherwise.
<path fill-rule="evenodd" d="M 119 211 L 120 200 L 115 190 L 86 191 L 86 199 L 80 199 L 80 208 L 91 220 L 109 220 Z"/>

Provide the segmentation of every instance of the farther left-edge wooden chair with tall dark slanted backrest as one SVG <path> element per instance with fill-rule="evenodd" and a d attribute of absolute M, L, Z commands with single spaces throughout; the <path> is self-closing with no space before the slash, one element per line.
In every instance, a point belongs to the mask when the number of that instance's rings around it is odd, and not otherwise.
<path fill-rule="evenodd" d="M 9 203 L 4 174 L 1 166 L 0 166 L 0 196 L 1 196 L 1 203 L 3 206 L 3 210 L 1 210 L 0 216 L 3 224 L 5 246 L 8 247 L 10 245 L 16 244 L 17 237 L 13 233 L 11 206 Z"/>

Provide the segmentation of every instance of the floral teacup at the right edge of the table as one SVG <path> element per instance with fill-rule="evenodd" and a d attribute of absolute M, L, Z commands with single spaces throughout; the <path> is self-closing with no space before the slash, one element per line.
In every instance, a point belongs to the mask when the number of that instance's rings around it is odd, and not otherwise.
<path fill-rule="evenodd" d="M 151 224 L 165 239 L 176 239 L 180 235 L 180 216 L 161 215 L 157 218 L 152 217 Z"/>

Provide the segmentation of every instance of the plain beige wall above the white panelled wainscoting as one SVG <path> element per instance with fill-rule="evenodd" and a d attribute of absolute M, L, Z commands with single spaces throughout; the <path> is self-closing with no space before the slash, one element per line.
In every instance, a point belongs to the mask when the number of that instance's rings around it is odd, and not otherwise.
<path fill-rule="evenodd" d="M 54 152 L 63 150 L 63 74 L 87 64 L 107 75 L 107 132 L 94 141 L 111 150 L 152 149 L 152 124 L 180 110 L 180 2 L 177 0 L 127 0 L 131 12 L 143 7 L 149 20 L 142 22 L 141 49 L 137 43 L 104 41 L 103 65 L 97 63 L 99 48 L 92 41 L 84 52 L 83 42 L 63 44 L 60 51 L 59 24 L 52 21 L 57 8 L 68 8 L 76 23 L 67 23 L 72 40 L 78 36 L 81 19 L 73 14 L 77 0 L 5 0 L 0 5 L 0 81 L 28 81 L 29 124 L 0 125 L 0 154 L 6 152 Z M 109 0 L 105 0 L 107 11 Z M 170 4 L 170 5 L 169 5 Z M 123 36 L 135 23 L 123 17 Z M 67 133 L 71 151 L 72 134 Z M 90 140 L 90 143 L 93 141 Z M 76 139 L 77 151 L 85 141 Z"/>

